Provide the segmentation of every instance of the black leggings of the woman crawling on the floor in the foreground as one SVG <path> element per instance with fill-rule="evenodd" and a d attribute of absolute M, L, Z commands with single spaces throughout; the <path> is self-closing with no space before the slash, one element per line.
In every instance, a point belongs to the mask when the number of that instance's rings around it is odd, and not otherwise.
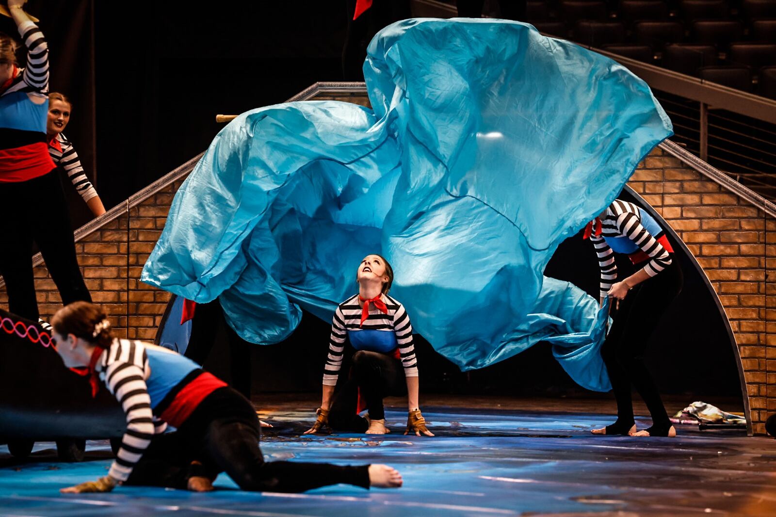
<path fill-rule="evenodd" d="M 369 488 L 369 465 L 265 462 L 256 412 L 237 391 L 223 387 L 199 404 L 178 431 L 151 441 L 126 484 L 186 488 L 189 477 L 226 472 L 242 490 L 303 492 L 346 483 Z M 193 465 L 192 461 L 201 463 Z"/>

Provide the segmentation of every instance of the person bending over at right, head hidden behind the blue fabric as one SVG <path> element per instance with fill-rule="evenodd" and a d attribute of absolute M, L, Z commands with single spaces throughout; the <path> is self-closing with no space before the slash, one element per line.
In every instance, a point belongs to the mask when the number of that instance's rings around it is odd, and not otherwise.
<path fill-rule="evenodd" d="M 633 203 L 614 203 L 587 224 L 584 238 L 593 241 L 601 267 L 601 304 L 616 300 L 617 312 L 601 347 L 617 401 L 617 421 L 594 429 L 597 435 L 676 436 L 655 381 L 644 364 L 644 352 L 660 317 L 681 291 L 683 276 L 674 249 L 656 220 Z M 615 252 L 625 253 L 633 265 L 643 265 L 616 281 Z M 652 427 L 636 432 L 631 384 L 652 415 Z"/>

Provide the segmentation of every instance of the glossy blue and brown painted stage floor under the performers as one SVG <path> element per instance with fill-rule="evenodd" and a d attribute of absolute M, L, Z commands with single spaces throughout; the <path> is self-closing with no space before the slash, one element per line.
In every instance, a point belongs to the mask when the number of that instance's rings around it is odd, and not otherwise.
<path fill-rule="evenodd" d="M 611 415 L 426 408 L 435 438 L 401 434 L 406 413 L 388 411 L 393 433 L 301 437 L 311 411 L 263 413 L 268 460 L 387 463 L 404 488 L 336 486 L 305 494 L 237 491 L 223 474 L 217 491 L 117 488 L 60 494 L 105 475 L 107 442 L 88 460 L 58 463 L 40 443 L 20 463 L 0 447 L 2 515 L 776 515 L 776 441 L 698 432 L 676 439 L 598 437 Z M 639 422 L 639 428 L 648 422 Z M 620 513 L 618 513 L 620 512 Z"/>

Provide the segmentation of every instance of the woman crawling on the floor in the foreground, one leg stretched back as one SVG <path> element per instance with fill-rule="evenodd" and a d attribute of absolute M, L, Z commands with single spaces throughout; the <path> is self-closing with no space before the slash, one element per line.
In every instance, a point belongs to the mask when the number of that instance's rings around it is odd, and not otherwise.
<path fill-rule="evenodd" d="M 94 304 L 70 304 L 51 324 L 64 365 L 88 366 L 92 392 L 102 381 L 126 413 L 126 433 L 108 475 L 63 492 L 110 491 L 121 483 L 207 491 L 220 472 L 249 491 L 401 486 L 400 474 L 386 465 L 265 462 L 248 399 L 171 350 L 113 338 L 106 314 Z M 161 435 L 168 424 L 177 431 Z"/>

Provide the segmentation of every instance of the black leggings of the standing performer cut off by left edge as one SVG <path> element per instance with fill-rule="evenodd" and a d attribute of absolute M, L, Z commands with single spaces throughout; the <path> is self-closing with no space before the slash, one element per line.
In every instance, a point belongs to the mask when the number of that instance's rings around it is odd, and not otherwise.
<path fill-rule="evenodd" d="M 5 279 L 9 311 L 33 321 L 40 316 L 33 278 L 33 241 L 43 254 L 62 304 L 92 301 L 75 258 L 68 205 L 57 169 L 26 182 L 0 182 L 0 220 L 0 274 Z"/>

